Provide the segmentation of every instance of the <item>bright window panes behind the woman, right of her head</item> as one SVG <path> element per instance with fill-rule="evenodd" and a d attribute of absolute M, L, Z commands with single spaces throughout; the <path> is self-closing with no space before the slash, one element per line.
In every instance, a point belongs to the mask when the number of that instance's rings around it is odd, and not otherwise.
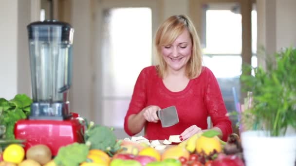
<path fill-rule="evenodd" d="M 220 84 L 229 112 L 235 111 L 232 87 L 240 97 L 241 14 L 239 3 L 209 3 L 203 6 L 205 39 L 203 65 L 210 68 Z M 257 12 L 252 19 L 252 66 L 257 66 Z M 240 100 L 240 99 L 239 99 Z"/>

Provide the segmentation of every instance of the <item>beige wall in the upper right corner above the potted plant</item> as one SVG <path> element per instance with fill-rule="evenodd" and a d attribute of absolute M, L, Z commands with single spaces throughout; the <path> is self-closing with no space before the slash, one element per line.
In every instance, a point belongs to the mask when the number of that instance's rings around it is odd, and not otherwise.
<path fill-rule="evenodd" d="M 267 55 L 282 47 L 296 46 L 295 7 L 296 0 L 257 0 L 257 43 L 266 51 L 266 54 L 258 54 L 260 66 L 265 66 Z"/>

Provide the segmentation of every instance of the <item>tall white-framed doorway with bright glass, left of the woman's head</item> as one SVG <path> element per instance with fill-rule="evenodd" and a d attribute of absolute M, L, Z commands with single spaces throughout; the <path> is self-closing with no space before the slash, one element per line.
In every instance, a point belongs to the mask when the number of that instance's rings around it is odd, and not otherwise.
<path fill-rule="evenodd" d="M 95 121 L 114 128 L 117 138 L 124 132 L 124 117 L 140 71 L 153 64 L 152 39 L 157 28 L 156 0 L 100 0 L 96 11 L 99 29 L 97 49 L 97 94 Z M 143 132 L 137 135 L 143 135 Z"/>

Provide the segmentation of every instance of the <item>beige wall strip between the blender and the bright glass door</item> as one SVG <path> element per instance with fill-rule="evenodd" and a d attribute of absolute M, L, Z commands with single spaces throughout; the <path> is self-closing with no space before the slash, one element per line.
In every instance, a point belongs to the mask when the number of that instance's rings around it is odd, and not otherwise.
<path fill-rule="evenodd" d="M 94 120 L 91 116 L 91 0 L 73 0 L 71 18 L 74 39 L 70 108 L 72 112 Z"/>

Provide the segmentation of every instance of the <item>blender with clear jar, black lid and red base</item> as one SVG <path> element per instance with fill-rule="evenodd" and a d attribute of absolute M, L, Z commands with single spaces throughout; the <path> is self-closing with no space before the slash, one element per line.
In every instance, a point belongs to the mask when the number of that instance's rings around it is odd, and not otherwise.
<path fill-rule="evenodd" d="M 83 142 L 84 124 L 70 112 L 74 29 L 57 20 L 27 26 L 33 103 L 27 119 L 15 125 L 16 139 L 26 140 L 25 150 L 47 145 L 53 155 L 62 146 Z"/>

